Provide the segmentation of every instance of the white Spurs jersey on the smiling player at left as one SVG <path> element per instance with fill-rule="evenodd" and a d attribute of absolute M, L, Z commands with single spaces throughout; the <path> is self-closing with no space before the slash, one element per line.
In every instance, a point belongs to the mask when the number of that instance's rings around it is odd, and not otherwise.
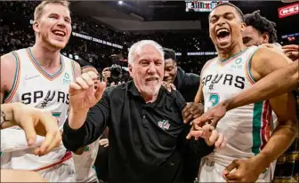
<path fill-rule="evenodd" d="M 12 91 L 4 98 L 4 103 L 22 102 L 31 107 L 51 111 L 58 119 L 62 129 L 67 119 L 69 109 L 69 84 L 74 80 L 75 63 L 61 55 L 61 68 L 53 75 L 48 74 L 38 65 L 30 48 L 12 52 L 16 61 L 16 73 Z M 20 138 L 24 131 L 19 127 Z M 44 138 L 44 137 L 41 137 Z M 1 156 L 1 167 L 36 170 L 41 167 L 60 161 L 66 155 L 66 148 L 62 143 L 47 155 L 37 156 L 32 154 L 33 149 L 12 151 Z"/>

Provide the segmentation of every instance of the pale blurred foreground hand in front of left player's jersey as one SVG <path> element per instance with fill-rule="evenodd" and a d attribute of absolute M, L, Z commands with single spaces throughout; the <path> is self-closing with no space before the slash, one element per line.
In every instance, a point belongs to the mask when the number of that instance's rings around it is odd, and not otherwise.
<path fill-rule="evenodd" d="M 28 146 L 36 143 L 36 134 L 45 139 L 34 150 L 35 155 L 45 155 L 61 144 L 61 131 L 53 115 L 42 109 L 18 103 L 13 107 L 13 121 L 25 131 Z"/>

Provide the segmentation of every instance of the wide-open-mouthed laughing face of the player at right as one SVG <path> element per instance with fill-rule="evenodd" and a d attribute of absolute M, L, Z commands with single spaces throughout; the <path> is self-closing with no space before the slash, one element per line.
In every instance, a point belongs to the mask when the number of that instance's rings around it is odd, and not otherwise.
<path fill-rule="evenodd" d="M 244 28 L 238 11 L 230 5 L 221 5 L 210 13 L 209 33 L 217 50 L 230 50 L 241 43 Z"/>

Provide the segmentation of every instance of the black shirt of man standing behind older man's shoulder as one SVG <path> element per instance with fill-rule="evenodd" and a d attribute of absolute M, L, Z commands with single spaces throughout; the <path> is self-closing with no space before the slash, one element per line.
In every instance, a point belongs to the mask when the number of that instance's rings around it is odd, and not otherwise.
<path fill-rule="evenodd" d="M 177 68 L 177 75 L 174 79 L 176 90 L 180 91 L 187 102 L 194 101 L 198 92 L 200 77 L 193 73 L 185 73 L 182 68 Z"/>

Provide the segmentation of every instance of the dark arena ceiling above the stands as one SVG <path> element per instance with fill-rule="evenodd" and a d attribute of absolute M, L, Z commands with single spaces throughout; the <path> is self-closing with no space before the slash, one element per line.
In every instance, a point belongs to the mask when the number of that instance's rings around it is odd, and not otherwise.
<path fill-rule="evenodd" d="M 208 12 L 185 12 L 184 1 L 77 1 L 73 2 L 73 12 L 93 17 L 118 31 L 144 30 L 196 30 L 207 28 Z M 244 13 L 261 10 L 262 15 L 277 22 L 280 34 L 299 32 L 294 25 L 297 17 L 279 20 L 278 8 L 285 6 L 280 1 L 234 1 Z M 291 30 L 290 30 L 291 29 Z"/>

